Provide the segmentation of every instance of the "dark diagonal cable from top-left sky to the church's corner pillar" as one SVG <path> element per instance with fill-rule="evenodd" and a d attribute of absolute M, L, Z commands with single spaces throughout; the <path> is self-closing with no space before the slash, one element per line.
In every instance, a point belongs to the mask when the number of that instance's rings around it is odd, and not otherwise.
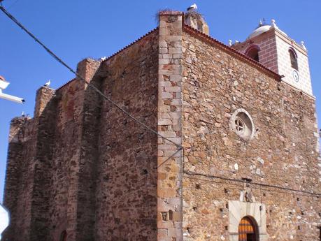
<path fill-rule="evenodd" d="M 0 6 L 0 9 L 2 10 L 2 12 L 7 15 L 10 20 L 13 20 L 13 22 L 15 22 L 15 24 L 17 24 L 17 26 L 19 26 L 23 31 L 25 31 L 31 38 L 34 39 L 34 41 L 36 41 L 36 43 L 38 43 L 39 45 L 41 45 L 45 51 L 47 51 L 55 60 L 57 60 L 60 64 L 62 64 L 63 66 L 65 66 L 66 68 L 69 69 L 69 71 L 71 71 L 71 73 L 74 73 L 80 80 L 82 80 L 83 82 L 85 82 L 88 86 L 92 87 L 92 89 L 94 89 L 94 91 L 96 91 L 99 95 L 101 95 L 102 97 L 104 97 L 107 101 L 109 101 L 110 103 L 112 103 L 112 105 L 114 105 L 118 110 L 122 111 L 125 115 L 127 115 L 128 117 L 130 117 L 131 119 L 134 119 L 135 122 L 137 122 L 138 124 L 140 124 L 141 126 L 143 126 L 145 129 L 147 129 L 148 131 L 155 133 L 157 136 L 159 136 L 159 138 L 162 138 L 164 140 L 169 141 L 170 143 L 173 143 L 174 145 L 176 145 L 176 147 L 178 148 L 183 148 L 181 145 L 178 145 L 177 143 L 174 143 L 173 140 L 169 140 L 169 138 L 166 138 L 162 135 L 160 135 L 157 131 L 151 129 L 149 126 L 147 126 L 146 124 L 144 124 L 143 122 L 141 122 L 139 119 L 137 119 L 136 117 L 134 117 L 134 115 L 131 115 L 129 112 L 127 112 L 126 110 L 124 110 L 122 107 L 120 107 L 120 105 L 117 105 L 117 103 L 115 103 L 113 100 L 111 100 L 110 98 L 108 98 L 108 96 L 106 96 L 105 94 L 103 94 L 99 89 L 97 89 L 97 87 L 95 87 L 94 85 L 92 85 L 90 82 L 88 82 L 87 80 L 85 80 L 85 78 L 83 78 L 83 76 L 81 76 L 80 74 L 78 74 L 76 71 L 73 70 L 73 68 L 71 68 L 68 64 L 66 64 L 62 59 L 60 59 L 54 52 L 52 52 L 49 48 L 47 48 L 41 41 L 38 40 L 38 38 L 36 38 L 36 36 L 34 36 L 34 34 L 31 34 L 31 32 L 26 29 L 20 22 L 18 22 L 18 20 L 15 19 L 15 17 L 13 17 L 13 15 L 11 15 L 10 13 L 8 13 L 8 11 L 3 8 L 3 6 Z"/>

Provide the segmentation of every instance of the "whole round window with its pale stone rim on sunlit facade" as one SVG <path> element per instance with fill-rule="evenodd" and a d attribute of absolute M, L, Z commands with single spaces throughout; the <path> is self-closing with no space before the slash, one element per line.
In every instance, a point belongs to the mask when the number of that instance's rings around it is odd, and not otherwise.
<path fill-rule="evenodd" d="M 236 110 L 231 116 L 231 129 L 244 140 L 250 140 L 254 136 L 254 124 L 250 114 L 244 109 Z"/>

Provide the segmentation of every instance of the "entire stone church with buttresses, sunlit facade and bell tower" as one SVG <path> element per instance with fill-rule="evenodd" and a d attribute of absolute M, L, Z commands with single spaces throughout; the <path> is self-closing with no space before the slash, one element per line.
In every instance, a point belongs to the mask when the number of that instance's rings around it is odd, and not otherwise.
<path fill-rule="evenodd" d="M 3 240 L 320 240 L 304 44 L 274 21 L 233 45 L 208 34 L 196 11 L 162 11 L 80 61 L 101 93 L 79 78 L 38 89 L 34 117 L 11 122 Z"/>

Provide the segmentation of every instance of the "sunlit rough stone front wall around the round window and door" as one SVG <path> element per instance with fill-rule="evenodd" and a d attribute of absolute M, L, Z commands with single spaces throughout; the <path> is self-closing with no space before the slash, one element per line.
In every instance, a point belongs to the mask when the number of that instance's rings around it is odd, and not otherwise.
<path fill-rule="evenodd" d="M 245 186 L 208 176 L 320 193 L 315 100 L 195 36 L 183 35 L 183 232 L 185 240 L 229 240 L 228 201 Z M 238 108 L 255 124 L 250 141 L 229 127 Z M 266 205 L 269 240 L 318 240 L 320 197 L 249 188 Z"/>

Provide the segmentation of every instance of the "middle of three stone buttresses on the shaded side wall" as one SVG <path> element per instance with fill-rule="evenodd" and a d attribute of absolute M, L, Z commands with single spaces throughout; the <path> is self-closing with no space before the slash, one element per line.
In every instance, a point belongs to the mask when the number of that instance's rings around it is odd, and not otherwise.
<path fill-rule="evenodd" d="M 34 127 L 36 153 L 32 156 L 30 240 L 48 240 L 50 232 L 49 201 L 52 184 L 52 153 L 55 141 L 56 104 L 54 89 L 43 87 L 36 94 Z M 29 148 L 29 147 L 28 147 Z"/>

